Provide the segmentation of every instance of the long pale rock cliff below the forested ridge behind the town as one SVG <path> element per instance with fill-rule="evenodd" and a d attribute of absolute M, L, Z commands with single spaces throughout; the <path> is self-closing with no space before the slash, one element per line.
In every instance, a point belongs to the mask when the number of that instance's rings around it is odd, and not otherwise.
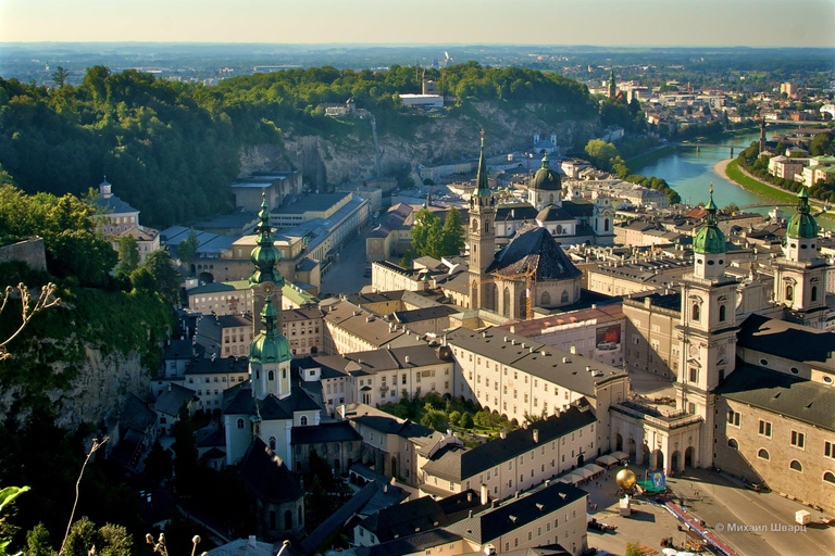
<path fill-rule="evenodd" d="M 507 109 L 495 102 L 471 104 L 447 117 L 399 117 L 402 121 L 377 123 L 382 176 L 399 174 L 419 164 L 476 156 L 482 128 L 486 130 L 487 153 L 491 154 L 526 149 L 535 132 L 544 138 L 556 132 L 560 146 L 571 147 L 591 138 L 599 126 L 595 119 L 573 118 L 552 106 L 527 104 Z M 301 169 L 311 186 L 320 191 L 326 185 L 333 187 L 374 177 L 377 153 L 371 121 L 351 123 L 352 130 L 344 136 L 298 135 L 291 128 L 285 129 L 284 150 L 274 146 L 247 149 L 241 153 L 241 173 L 291 165 Z M 404 131 L 407 129 L 409 131 Z"/>

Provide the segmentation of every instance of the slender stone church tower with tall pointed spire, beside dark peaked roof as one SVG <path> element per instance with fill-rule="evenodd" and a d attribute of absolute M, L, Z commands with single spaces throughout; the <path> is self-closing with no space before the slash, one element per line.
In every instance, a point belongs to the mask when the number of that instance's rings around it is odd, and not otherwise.
<path fill-rule="evenodd" d="M 494 285 L 487 282 L 487 267 L 496 257 L 496 202 L 487 182 L 487 165 L 484 162 L 484 130 L 478 157 L 478 175 L 475 190 L 470 198 L 470 308 L 496 308 L 491 299 Z"/>

